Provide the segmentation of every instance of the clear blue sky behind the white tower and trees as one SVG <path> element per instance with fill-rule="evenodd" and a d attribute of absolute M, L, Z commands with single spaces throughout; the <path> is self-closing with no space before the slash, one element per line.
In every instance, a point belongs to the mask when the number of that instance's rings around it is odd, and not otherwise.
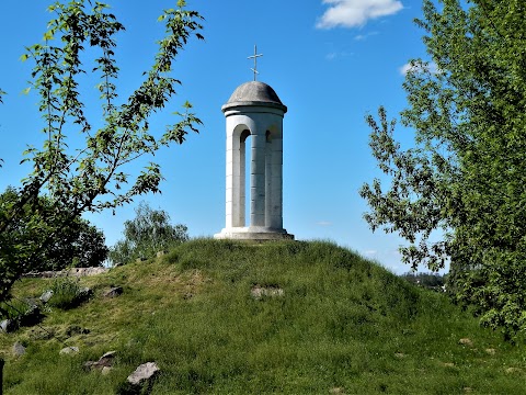
<path fill-rule="evenodd" d="M 162 35 L 157 18 L 175 1 L 108 0 L 125 24 L 118 36 L 118 89 L 124 98 L 141 80 Z M 22 63 L 24 46 L 42 40 L 52 16 L 47 1 L 9 1 L 0 14 L 0 189 L 18 185 L 28 168 L 20 166 L 26 145 L 37 145 L 43 127 L 37 97 L 28 86 L 31 64 Z M 220 111 L 233 90 L 252 80 L 248 56 L 254 44 L 260 81 L 277 92 L 288 112 L 284 120 L 284 227 L 297 239 L 331 239 L 391 271 L 400 263 L 403 240 L 373 234 L 362 218 L 367 210 L 361 185 L 380 176 L 367 145 L 367 113 L 385 105 L 390 116 L 405 105 L 403 67 L 425 57 L 423 32 L 412 22 L 422 14 L 420 0 L 247 1 L 188 0 L 204 18 L 205 42 L 192 41 L 175 64 L 183 82 L 167 112 L 152 120 L 161 132 L 170 113 L 188 100 L 204 122 L 201 133 L 182 146 L 156 156 L 165 180 L 162 194 L 138 198 L 115 215 L 89 218 L 113 245 L 123 223 L 145 200 L 165 210 L 173 223 L 188 226 L 191 236 L 211 236 L 225 226 L 225 117 Z M 94 92 L 93 84 L 83 90 Z M 87 94 L 87 98 L 90 98 Z M 91 99 L 89 99 L 91 100 Z M 91 104 L 90 102 L 88 104 Z M 99 105 L 99 104 L 94 104 Z M 93 114 L 96 114 L 93 112 Z M 99 115 L 94 115 L 99 116 Z M 402 143 L 412 132 L 397 128 Z"/>

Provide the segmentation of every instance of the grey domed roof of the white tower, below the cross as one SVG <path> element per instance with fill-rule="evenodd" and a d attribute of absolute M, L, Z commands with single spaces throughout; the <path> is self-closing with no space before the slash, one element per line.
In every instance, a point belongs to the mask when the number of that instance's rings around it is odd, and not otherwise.
<path fill-rule="evenodd" d="M 287 108 L 282 103 L 274 89 L 260 81 L 244 82 L 236 88 L 230 99 L 228 99 L 227 103 L 222 106 L 222 111 L 236 105 L 261 104 L 281 108 L 287 111 Z"/>

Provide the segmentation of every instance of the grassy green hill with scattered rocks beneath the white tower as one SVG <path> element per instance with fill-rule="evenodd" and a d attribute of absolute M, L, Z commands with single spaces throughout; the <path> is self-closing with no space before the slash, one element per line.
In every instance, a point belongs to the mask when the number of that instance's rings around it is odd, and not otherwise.
<path fill-rule="evenodd" d="M 114 394 L 149 361 L 161 369 L 152 394 L 524 393 L 522 348 L 330 242 L 198 239 L 81 282 L 94 296 L 48 311 L 45 330 L 0 335 L 5 394 Z M 113 285 L 123 294 L 103 297 Z M 80 352 L 59 356 L 57 339 Z M 12 356 L 15 341 L 26 354 Z M 83 369 L 110 350 L 110 374 Z"/>

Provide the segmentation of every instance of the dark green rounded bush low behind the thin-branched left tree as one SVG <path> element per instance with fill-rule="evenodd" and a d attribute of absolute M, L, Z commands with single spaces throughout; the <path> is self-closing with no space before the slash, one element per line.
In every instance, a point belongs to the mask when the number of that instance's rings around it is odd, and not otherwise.
<path fill-rule="evenodd" d="M 19 199 L 16 190 L 8 187 L 5 192 L 0 194 L 0 206 L 14 203 Z M 12 224 L 10 232 L 12 239 L 25 239 L 27 224 L 49 218 L 49 211 L 54 204 L 48 196 L 38 196 L 38 212 L 35 212 L 30 204 L 24 207 L 24 216 L 18 217 L 18 223 Z M 61 270 L 67 267 L 87 268 L 101 266 L 107 257 L 104 234 L 80 216 L 71 218 L 68 224 L 60 224 L 59 227 L 52 223 L 43 224 L 42 230 L 50 233 L 49 242 L 35 256 L 32 262 L 32 270 Z M 31 229 L 31 226 L 30 226 Z M 31 230 L 30 230 L 31 232 Z M 46 238 L 46 235 L 41 235 Z"/>

